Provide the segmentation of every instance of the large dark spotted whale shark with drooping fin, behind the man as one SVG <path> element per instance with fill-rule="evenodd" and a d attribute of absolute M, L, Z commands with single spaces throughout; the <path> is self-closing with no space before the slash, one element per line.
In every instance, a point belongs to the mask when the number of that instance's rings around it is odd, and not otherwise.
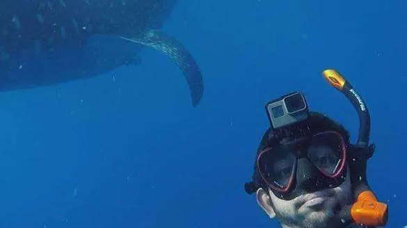
<path fill-rule="evenodd" d="M 128 64 L 149 47 L 182 72 L 191 103 L 203 94 L 193 55 L 161 30 L 176 0 L 2 0 L 0 91 L 92 78 Z"/>

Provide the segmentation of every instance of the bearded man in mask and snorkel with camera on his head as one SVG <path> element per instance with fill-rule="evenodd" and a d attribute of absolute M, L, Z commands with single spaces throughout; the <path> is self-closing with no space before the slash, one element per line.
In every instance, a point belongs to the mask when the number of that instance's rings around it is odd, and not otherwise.
<path fill-rule="evenodd" d="M 365 102 L 339 73 L 323 72 L 330 85 L 348 98 L 359 116 L 358 141 L 318 112 L 310 112 L 301 92 L 266 103 L 270 128 L 255 157 L 251 182 L 257 203 L 283 228 L 380 227 L 388 206 L 378 202 L 366 178 L 370 116 Z"/>

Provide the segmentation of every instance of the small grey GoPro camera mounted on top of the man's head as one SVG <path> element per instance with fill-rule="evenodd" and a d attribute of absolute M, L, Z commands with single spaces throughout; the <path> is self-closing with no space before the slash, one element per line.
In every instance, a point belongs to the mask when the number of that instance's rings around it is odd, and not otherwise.
<path fill-rule="evenodd" d="M 271 126 L 281 128 L 308 118 L 308 105 L 303 94 L 294 92 L 266 103 Z"/>

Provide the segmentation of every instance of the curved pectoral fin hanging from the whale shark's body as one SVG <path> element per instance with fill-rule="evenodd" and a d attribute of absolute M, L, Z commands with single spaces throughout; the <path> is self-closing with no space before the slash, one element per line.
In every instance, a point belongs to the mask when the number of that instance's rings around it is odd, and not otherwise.
<path fill-rule="evenodd" d="M 198 105 L 203 94 L 202 74 L 191 53 L 180 42 L 159 30 L 148 30 L 137 37 L 122 39 L 156 49 L 175 60 L 188 83 L 192 105 Z"/>

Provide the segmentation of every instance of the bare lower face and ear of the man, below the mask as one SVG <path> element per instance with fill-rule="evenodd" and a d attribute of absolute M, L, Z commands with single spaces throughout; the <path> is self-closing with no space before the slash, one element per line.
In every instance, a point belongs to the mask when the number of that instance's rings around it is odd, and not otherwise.
<path fill-rule="evenodd" d="M 349 177 L 349 168 L 346 177 Z M 281 200 L 272 191 L 257 191 L 257 202 L 270 218 L 277 218 L 282 227 L 334 228 L 329 222 L 338 211 L 351 204 L 351 182 L 346 178 L 336 188 L 300 195 L 293 200 Z"/>

